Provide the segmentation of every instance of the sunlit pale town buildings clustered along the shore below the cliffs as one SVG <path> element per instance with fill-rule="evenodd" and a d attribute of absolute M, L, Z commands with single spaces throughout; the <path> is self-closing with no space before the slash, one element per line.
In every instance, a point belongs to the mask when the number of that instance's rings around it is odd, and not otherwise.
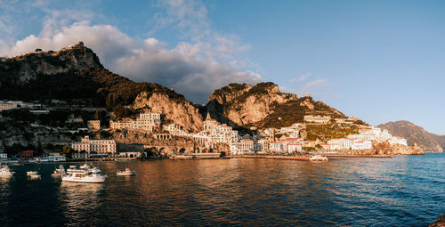
<path fill-rule="evenodd" d="M 231 126 L 221 124 L 207 114 L 204 121 L 204 129 L 196 134 L 191 134 L 182 126 L 171 123 L 161 126 L 161 116 L 158 113 L 141 113 L 138 118 L 126 118 L 122 121 L 110 121 L 112 129 L 142 129 L 153 132 L 155 129 L 168 132 L 168 138 L 174 136 L 189 137 L 200 147 L 214 149 L 217 144 L 226 144 L 231 155 L 242 155 L 251 153 L 274 153 L 290 154 L 303 152 L 304 148 L 317 148 L 321 150 L 370 150 L 375 142 L 389 142 L 391 145 L 400 144 L 407 146 L 404 138 L 392 136 L 387 130 L 374 126 L 360 126 L 359 134 L 350 134 L 345 138 L 332 139 L 328 142 L 308 141 L 301 136 L 306 125 L 321 125 L 329 123 L 354 124 L 357 118 L 331 118 L 329 116 L 304 116 L 304 123 L 295 123 L 292 126 L 279 129 L 268 128 L 262 134 L 251 136 L 240 136 L 239 132 Z M 100 121 L 89 121 L 91 130 L 100 130 Z M 163 134 L 164 135 L 164 134 Z M 155 136 L 156 137 L 156 136 Z M 164 138 L 164 137 L 163 137 Z M 85 150 L 97 153 L 115 153 L 116 142 L 113 140 L 91 140 L 88 136 L 81 142 L 72 145 L 74 150 Z"/>

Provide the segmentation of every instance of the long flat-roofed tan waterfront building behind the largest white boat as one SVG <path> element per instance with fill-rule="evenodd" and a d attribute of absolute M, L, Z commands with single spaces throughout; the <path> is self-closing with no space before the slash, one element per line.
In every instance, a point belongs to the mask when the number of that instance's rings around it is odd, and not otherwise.
<path fill-rule="evenodd" d="M 73 142 L 71 147 L 77 151 L 85 150 L 88 153 L 89 152 L 97 152 L 101 154 L 116 153 L 116 142 L 114 140 L 104 140 L 104 139 L 91 140 L 88 135 L 85 135 L 85 137 L 82 138 L 80 142 Z"/>

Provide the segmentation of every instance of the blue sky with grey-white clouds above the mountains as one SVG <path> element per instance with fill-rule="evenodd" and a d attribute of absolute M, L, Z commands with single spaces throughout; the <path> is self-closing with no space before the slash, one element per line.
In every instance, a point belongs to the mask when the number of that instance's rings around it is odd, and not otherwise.
<path fill-rule="evenodd" d="M 115 73 L 205 103 L 271 81 L 371 125 L 445 134 L 445 1 L 5 1 L 0 56 L 84 41 Z"/>

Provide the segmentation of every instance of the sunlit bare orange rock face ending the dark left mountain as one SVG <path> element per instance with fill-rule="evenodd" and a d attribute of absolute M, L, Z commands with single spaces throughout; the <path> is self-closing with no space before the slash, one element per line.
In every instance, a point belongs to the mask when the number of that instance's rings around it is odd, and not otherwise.
<path fill-rule="evenodd" d="M 140 93 L 132 105 L 133 109 L 149 109 L 161 113 L 167 121 L 181 125 L 185 130 L 198 132 L 203 128 L 203 119 L 198 108 L 184 99 L 171 99 L 165 93 Z"/>

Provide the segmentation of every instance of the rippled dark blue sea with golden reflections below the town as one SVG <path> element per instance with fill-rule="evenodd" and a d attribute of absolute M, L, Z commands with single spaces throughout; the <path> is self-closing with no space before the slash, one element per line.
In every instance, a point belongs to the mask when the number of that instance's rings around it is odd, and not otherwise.
<path fill-rule="evenodd" d="M 16 174 L 0 178 L 1 225 L 426 226 L 445 213 L 443 153 L 95 163 L 103 184 L 61 182 L 51 176 L 58 165 L 11 166 Z M 125 166 L 136 175 L 116 176 Z"/>

